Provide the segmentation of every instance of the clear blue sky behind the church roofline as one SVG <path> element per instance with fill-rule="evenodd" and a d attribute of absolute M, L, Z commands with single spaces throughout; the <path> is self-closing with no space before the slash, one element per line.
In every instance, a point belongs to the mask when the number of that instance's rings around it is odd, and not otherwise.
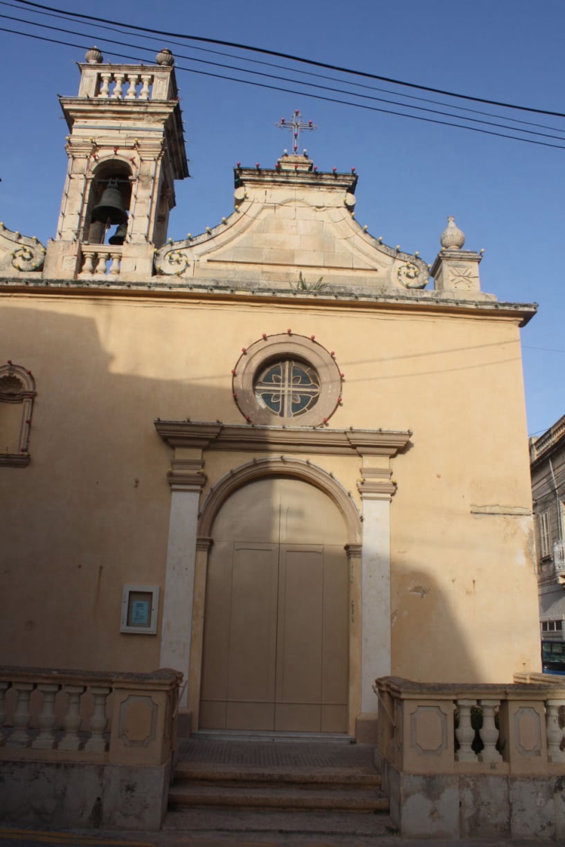
<path fill-rule="evenodd" d="M 0 2 L 0 220 L 9 229 L 36 235 L 44 244 L 54 235 L 67 163 L 67 128 L 57 95 L 77 94 L 76 63 L 84 61 L 85 49 L 97 44 L 107 61 L 151 64 L 158 49 L 169 47 L 176 57 L 191 170 L 191 178 L 176 185 L 170 237 L 197 235 L 227 217 L 233 208 L 235 163 L 274 167 L 283 149 L 291 147 L 290 134 L 275 124 L 299 109 L 318 127 L 301 137 L 301 152 L 307 147 L 319 170 L 356 169 L 356 218 L 372 235 L 382 236 L 391 246 L 399 244 L 403 251 L 419 251 L 433 263 L 452 214 L 467 237 L 465 247 L 485 250 L 482 290 L 501 302 L 539 304 L 538 314 L 522 330 L 529 434 L 540 435 L 565 413 L 565 268 L 560 270 L 565 117 L 509 111 L 180 38 L 237 42 L 418 86 L 565 113 L 562 0 L 45 0 L 44 5 L 97 14 L 116 25 L 114 31 L 104 30 L 96 21 L 47 16 L 45 10 L 19 0 Z M 135 34 L 120 23 L 150 31 Z M 178 35 L 154 36 L 155 30 Z M 30 34 L 64 43 L 32 39 Z M 206 52 L 210 50 L 217 53 Z M 249 59 L 286 69 L 249 64 Z M 253 69 L 259 75 L 219 64 Z M 235 76 L 273 87 L 237 82 Z M 312 86 L 305 87 L 305 82 Z M 353 82 L 373 90 L 354 88 Z M 435 103 L 401 100 L 401 93 Z M 362 99 L 359 94 L 405 105 Z M 490 114 L 459 112 L 467 118 L 511 127 L 475 123 L 476 129 L 516 136 L 520 126 L 546 134 L 520 133 L 522 138 L 557 148 L 373 110 L 461 123 L 415 110 L 445 111 L 447 104 Z M 510 124 L 509 117 L 529 124 Z"/>

